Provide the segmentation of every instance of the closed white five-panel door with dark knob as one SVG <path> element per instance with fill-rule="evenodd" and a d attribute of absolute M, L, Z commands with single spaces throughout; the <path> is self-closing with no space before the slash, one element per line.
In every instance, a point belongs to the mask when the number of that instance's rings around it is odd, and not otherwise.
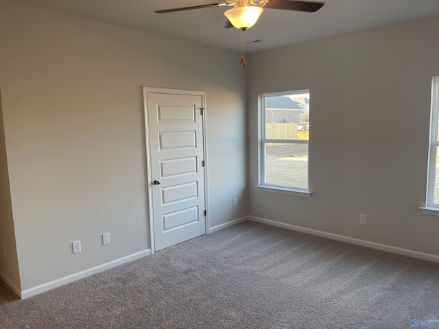
<path fill-rule="evenodd" d="M 201 93 L 157 93 L 147 88 L 145 98 L 151 227 L 157 251 L 206 233 L 204 99 Z"/>

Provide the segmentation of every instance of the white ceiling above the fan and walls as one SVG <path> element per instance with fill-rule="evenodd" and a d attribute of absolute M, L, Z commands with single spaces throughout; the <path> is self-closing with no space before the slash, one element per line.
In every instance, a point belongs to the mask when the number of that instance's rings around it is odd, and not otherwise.
<path fill-rule="evenodd" d="M 225 49 L 241 49 L 241 32 L 225 29 L 227 8 L 156 14 L 154 10 L 204 5 L 215 0 L 0 0 L 185 38 Z M 246 32 L 248 52 L 291 45 L 399 21 L 439 15 L 439 0 L 322 0 L 315 13 L 266 9 Z"/>

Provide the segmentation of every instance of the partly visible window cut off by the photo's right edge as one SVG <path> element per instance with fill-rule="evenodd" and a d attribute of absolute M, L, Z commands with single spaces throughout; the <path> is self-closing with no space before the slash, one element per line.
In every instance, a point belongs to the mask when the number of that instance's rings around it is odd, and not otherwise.
<path fill-rule="evenodd" d="M 433 78 L 431 88 L 431 117 L 430 117 L 430 147 L 429 168 L 427 180 L 427 208 L 437 208 L 434 211 L 439 215 L 439 77 Z M 421 208 L 421 210 L 426 208 Z M 424 211 L 423 211 L 424 212 Z"/>

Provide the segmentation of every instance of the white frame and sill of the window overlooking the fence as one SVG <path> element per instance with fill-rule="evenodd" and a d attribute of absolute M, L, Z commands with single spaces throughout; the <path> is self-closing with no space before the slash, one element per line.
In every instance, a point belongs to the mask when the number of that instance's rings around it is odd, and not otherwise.
<path fill-rule="evenodd" d="M 307 187 L 303 188 L 300 186 L 289 186 L 289 185 L 280 185 L 280 184 L 270 184 L 266 182 L 266 172 L 265 172 L 265 145 L 268 143 L 274 144 L 307 144 L 309 145 L 308 140 L 300 140 L 300 139 L 266 139 L 265 138 L 265 99 L 268 97 L 279 97 L 279 96 L 290 96 L 290 95 L 301 95 L 301 94 L 310 94 L 310 102 L 311 102 L 311 90 L 302 89 L 302 90 L 290 90 L 276 93 L 262 93 L 259 94 L 259 138 L 258 138 L 258 185 L 255 187 L 259 191 L 267 191 L 274 193 L 282 193 L 289 195 L 298 195 L 302 197 L 310 197 L 311 192 L 309 191 L 309 159 L 307 161 Z M 310 125 L 311 127 L 311 125 Z M 309 151 L 309 146 L 308 146 Z"/>

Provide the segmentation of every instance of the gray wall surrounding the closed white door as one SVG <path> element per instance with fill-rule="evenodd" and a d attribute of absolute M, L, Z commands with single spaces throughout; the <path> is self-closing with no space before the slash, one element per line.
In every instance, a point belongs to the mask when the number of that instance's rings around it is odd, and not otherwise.
<path fill-rule="evenodd" d="M 23 290 L 150 246 L 142 86 L 206 91 L 210 227 L 248 214 L 237 53 L 5 3 L 0 45 Z"/>

